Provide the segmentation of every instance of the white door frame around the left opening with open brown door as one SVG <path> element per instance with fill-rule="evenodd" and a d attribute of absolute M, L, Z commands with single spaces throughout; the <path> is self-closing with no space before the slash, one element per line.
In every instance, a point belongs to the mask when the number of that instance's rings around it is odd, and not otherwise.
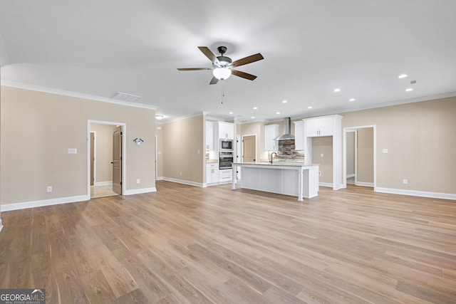
<path fill-rule="evenodd" d="M 90 129 L 92 125 L 115 125 L 121 127 L 122 130 L 122 193 L 126 190 L 127 176 L 127 124 L 124 122 L 108 122 L 103 120 L 88 120 L 87 121 L 87 197 L 90 199 Z M 111 147 L 112 148 L 112 147 Z"/>

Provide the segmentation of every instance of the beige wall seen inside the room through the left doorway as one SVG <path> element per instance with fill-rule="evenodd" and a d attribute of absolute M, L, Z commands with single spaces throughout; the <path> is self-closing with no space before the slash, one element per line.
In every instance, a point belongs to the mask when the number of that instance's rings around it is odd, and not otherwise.
<path fill-rule="evenodd" d="M 95 185 L 113 182 L 113 133 L 115 125 L 92 124 L 90 131 L 95 132 Z"/>

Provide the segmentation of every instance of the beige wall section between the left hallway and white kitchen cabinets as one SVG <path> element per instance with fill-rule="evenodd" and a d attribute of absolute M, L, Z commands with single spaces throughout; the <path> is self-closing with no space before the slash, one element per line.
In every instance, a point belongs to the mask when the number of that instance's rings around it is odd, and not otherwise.
<path fill-rule="evenodd" d="M 163 177 L 204 183 L 205 121 L 198 115 L 162 125 Z"/>

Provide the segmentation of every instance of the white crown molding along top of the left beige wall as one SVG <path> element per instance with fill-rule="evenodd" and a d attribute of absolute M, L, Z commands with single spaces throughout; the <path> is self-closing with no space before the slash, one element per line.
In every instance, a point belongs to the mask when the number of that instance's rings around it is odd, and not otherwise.
<path fill-rule="evenodd" d="M 67 90 L 60 90 L 60 89 L 56 89 L 56 88 L 42 87 L 40 85 L 31 85 L 28 83 L 17 83 L 15 81 L 9 81 L 9 80 L 1 80 L 1 85 L 5 86 L 5 87 L 18 88 L 18 89 L 23 89 L 23 90 L 33 90 L 33 91 L 42 92 L 42 93 L 51 93 L 51 94 L 63 95 L 63 96 L 74 97 L 74 98 L 81 98 L 81 99 L 86 99 L 86 100 L 100 101 L 102 103 L 114 103 L 116 105 L 126 105 L 128 107 L 133 107 L 133 108 L 143 108 L 143 109 L 149 109 L 149 110 L 157 110 L 157 108 L 158 108 L 155 105 L 146 105 L 144 103 L 130 103 L 128 101 L 115 100 L 113 98 L 105 98 L 105 97 L 97 96 L 97 95 L 77 93 L 77 92 L 72 92 L 72 91 L 67 91 Z"/>

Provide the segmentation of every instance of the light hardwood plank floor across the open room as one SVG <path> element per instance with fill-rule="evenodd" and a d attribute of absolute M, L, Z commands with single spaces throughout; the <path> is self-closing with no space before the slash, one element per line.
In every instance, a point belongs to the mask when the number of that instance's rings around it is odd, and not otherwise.
<path fill-rule="evenodd" d="M 456 201 L 158 181 L 1 216 L 0 288 L 47 303 L 456 303 Z"/>

